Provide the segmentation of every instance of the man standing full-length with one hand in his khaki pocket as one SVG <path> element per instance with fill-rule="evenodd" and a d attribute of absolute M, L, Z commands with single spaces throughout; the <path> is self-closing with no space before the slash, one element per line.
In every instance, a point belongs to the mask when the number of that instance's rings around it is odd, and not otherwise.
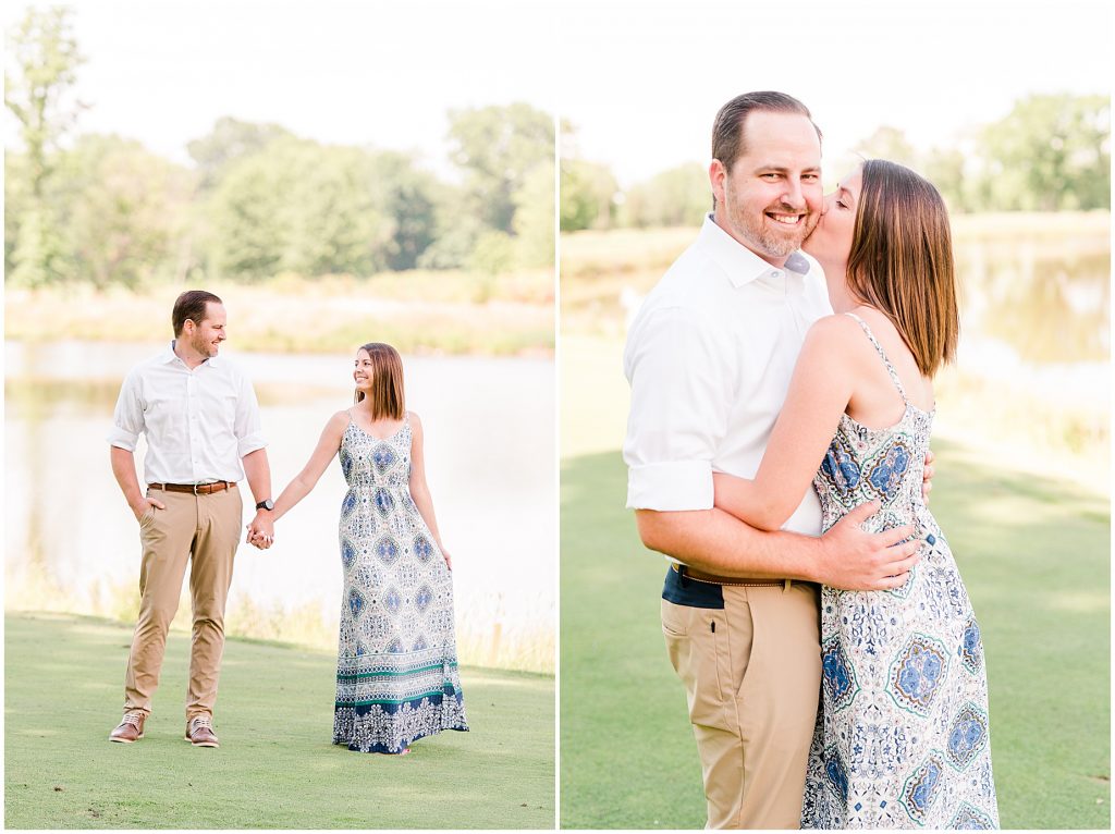
<path fill-rule="evenodd" d="M 211 292 L 191 290 L 174 302 L 174 340 L 124 380 L 108 435 L 113 475 L 139 525 L 139 619 L 124 685 L 124 719 L 109 735 L 132 743 L 144 735 L 158 686 L 166 632 L 190 562 L 193 638 L 186 701 L 186 739 L 217 747 L 213 706 L 224 649 L 224 607 L 240 539 L 242 501 L 236 482 L 248 475 L 256 515 L 253 543 L 269 546 L 274 527 L 271 469 L 251 382 L 220 358 L 225 310 Z M 134 453 L 147 436 L 146 491 Z"/>

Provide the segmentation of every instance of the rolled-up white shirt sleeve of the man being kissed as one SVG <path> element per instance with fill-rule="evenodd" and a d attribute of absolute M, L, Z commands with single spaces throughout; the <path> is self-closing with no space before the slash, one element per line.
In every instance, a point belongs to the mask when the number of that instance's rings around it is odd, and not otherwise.
<path fill-rule="evenodd" d="M 631 333 L 624 355 L 629 508 L 712 507 L 712 459 L 730 407 L 725 350 L 712 332 L 700 313 L 665 307 Z"/>

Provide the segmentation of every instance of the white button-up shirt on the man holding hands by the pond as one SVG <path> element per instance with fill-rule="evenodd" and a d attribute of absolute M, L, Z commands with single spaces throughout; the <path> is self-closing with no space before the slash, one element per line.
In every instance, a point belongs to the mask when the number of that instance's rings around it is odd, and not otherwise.
<path fill-rule="evenodd" d="M 113 423 L 108 443 L 128 452 L 146 433 L 148 484 L 240 481 L 240 459 L 266 446 L 248 377 L 221 357 L 191 370 L 175 355 L 174 342 L 132 369 Z"/>

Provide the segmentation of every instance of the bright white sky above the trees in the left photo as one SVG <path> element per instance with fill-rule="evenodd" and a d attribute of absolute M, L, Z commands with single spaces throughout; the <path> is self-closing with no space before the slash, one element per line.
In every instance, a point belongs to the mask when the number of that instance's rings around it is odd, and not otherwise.
<path fill-rule="evenodd" d="M 8 30 L 28 3 L 4 3 Z M 76 8 L 78 129 L 187 162 L 221 116 L 445 159 L 449 108 L 554 107 L 554 28 L 527 3 L 109 2 Z M 6 64 L 6 67 L 8 65 Z M 7 115 L 4 144 L 12 145 Z"/>

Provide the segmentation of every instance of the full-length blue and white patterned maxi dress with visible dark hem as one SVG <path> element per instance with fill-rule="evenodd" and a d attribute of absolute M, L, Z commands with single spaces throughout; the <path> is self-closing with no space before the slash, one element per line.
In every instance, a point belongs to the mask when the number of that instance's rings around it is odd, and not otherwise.
<path fill-rule="evenodd" d="M 453 576 L 410 497 L 410 423 L 388 438 L 351 419 L 340 460 L 345 571 L 333 744 L 403 753 L 467 730 L 457 672 Z"/>

